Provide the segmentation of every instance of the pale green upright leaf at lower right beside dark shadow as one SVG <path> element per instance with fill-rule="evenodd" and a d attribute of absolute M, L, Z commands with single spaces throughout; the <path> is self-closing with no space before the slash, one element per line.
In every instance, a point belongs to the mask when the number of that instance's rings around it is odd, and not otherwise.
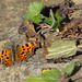
<path fill-rule="evenodd" d="M 74 67 L 75 67 L 75 63 L 74 61 L 72 60 L 70 65 L 68 65 L 66 68 L 62 68 L 61 71 L 63 73 L 67 73 L 67 75 L 71 75 L 73 70 L 74 70 Z"/>

